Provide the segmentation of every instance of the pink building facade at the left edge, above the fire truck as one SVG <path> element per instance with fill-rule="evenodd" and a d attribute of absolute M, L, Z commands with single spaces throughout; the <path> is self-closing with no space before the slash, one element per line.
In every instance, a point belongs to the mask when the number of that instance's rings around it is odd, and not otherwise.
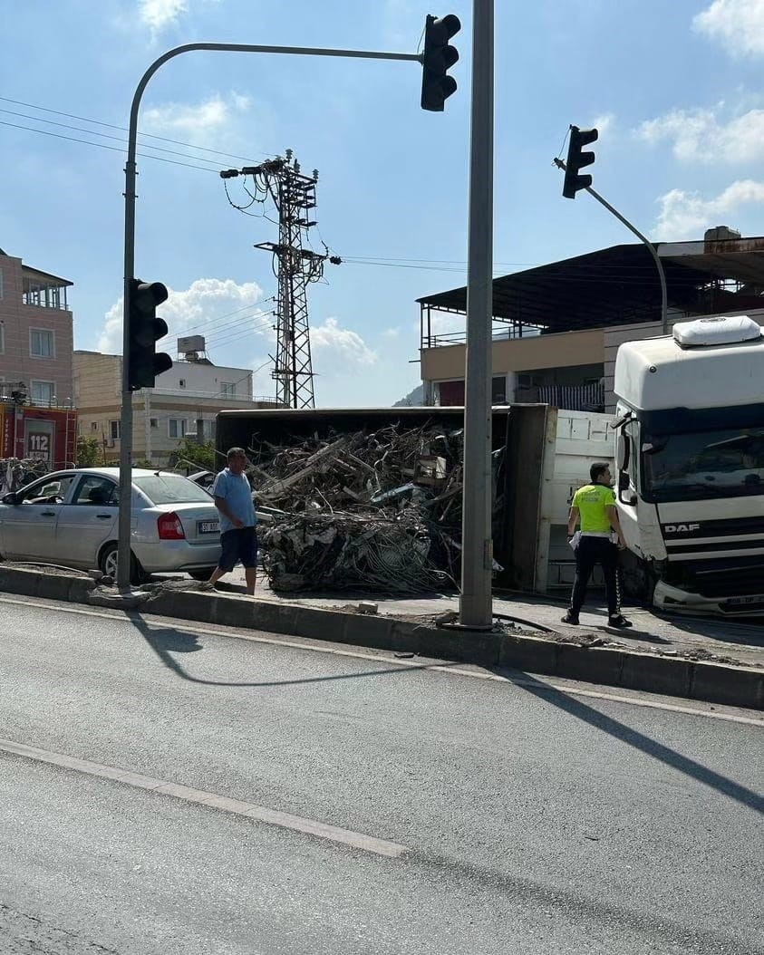
<path fill-rule="evenodd" d="M 0 396 L 38 407 L 74 405 L 74 329 L 68 279 L 0 249 Z"/>

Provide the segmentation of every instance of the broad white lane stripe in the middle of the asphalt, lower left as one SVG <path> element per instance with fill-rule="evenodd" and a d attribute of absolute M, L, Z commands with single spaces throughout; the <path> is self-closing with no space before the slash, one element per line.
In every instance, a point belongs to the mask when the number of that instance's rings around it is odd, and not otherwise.
<path fill-rule="evenodd" d="M 68 756 L 65 753 L 51 753 L 49 750 L 40 750 L 36 746 L 16 743 L 11 739 L 0 739 L 0 753 L 23 756 L 25 759 L 32 759 L 34 762 L 61 766 L 64 769 L 74 770 L 76 773 L 100 776 L 103 779 L 114 779 L 125 786 L 133 786 L 135 789 L 158 793 L 161 796 L 173 796 L 176 799 L 182 799 L 184 802 L 222 809 L 226 813 L 256 819 L 258 822 L 265 822 L 271 826 L 280 826 L 282 829 L 292 829 L 295 832 L 306 833 L 308 836 L 326 838 L 331 842 L 341 842 L 343 845 L 350 845 L 353 849 L 371 852 L 376 856 L 400 859 L 401 856 L 410 851 L 408 846 L 400 845 L 397 842 L 366 836 L 364 833 L 356 833 L 351 829 L 331 826 L 326 822 L 318 822 L 316 819 L 292 816 L 291 813 L 281 813 L 278 810 L 258 806 L 252 802 L 230 799 L 228 796 L 219 796 L 217 793 L 206 793 L 204 790 L 192 789 L 190 786 L 182 786 L 180 783 L 167 782 L 166 779 L 156 779 L 153 776 L 132 773 L 129 770 L 117 769 L 114 766 L 104 766 L 102 763 L 94 763 L 88 759 L 77 759 L 75 756 Z"/>

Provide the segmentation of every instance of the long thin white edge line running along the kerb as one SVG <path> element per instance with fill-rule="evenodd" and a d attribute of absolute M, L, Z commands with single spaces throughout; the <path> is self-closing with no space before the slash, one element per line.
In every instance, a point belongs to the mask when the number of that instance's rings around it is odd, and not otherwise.
<path fill-rule="evenodd" d="M 124 616 L 124 611 L 121 614 L 118 611 L 117 613 L 104 613 L 101 610 L 90 610 L 82 607 L 72 606 L 57 606 L 53 604 L 41 604 L 39 602 L 32 601 L 12 600 L 5 597 L 0 597 L 0 604 L 29 606 L 35 610 L 39 610 L 41 607 L 44 607 L 47 610 L 54 610 L 58 613 L 74 613 L 83 617 L 100 617 L 104 620 L 121 620 L 125 623 L 130 622 L 130 618 Z M 144 617 L 144 620 L 147 620 L 150 623 L 159 624 L 160 626 L 167 626 L 168 619 L 172 618 L 157 617 L 154 615 L 146 615 Z M 181 622 L 179 624 L 175 622 L 174 619 L 172 628 L 181 633 L 187 631 L 188 633 L 201 633 L 204 636 L 211 637 L 230 637 L 234 640 L 246 640 L 253 644 L 268 644 L 273 647 L 293 647 L 295 649 L 309 650 L 312 653 L 329 653 L 334 656 L 352 657 L 356 660 L 373 660 L 377 663 L 385 663 L 389 666 L 399 667 L 401 669 L 411 668 L 442 673 L 456 673 L 458 676 L 467 676 L 476 680 L 493 680 L 497 683 L 508 684 L 509 686 L 528 687 L 533 690 L 547 690 L 549 692 L 570 694 L 573 696 L 587 696 L 592 699 L 607 700 L 608 702 L 612 703 L 626 703 L 628 706 L 643 707 L 648 710 L 665 710 L 668 712 L 684 713 L 688 716 L 703 716 L 705 719 L 723 720 L 728 723 L 742 723 L 746 726 L 756 726 L 760 729 L 764 729 L 764 717 L 757 719 L 753 716 L 740 716 L 737 713 L 728 713 L 717 710 L 698 710 L 695 707 L 685 707 L 675 703 L 665 703 L 663 700 L 648 700 L 642 697 L 622 696 L 618 693 L 607 693 L 602 690 L 582 690 L 578 687 L 569 686 L 568 684 L 550 683 L 543 676 L 539 676 L 538 679 L 534 680 L 523 680 L 521 678 L 512 679 L 511 677 L 501 676 L 499 673 L 487 673 L 471 669 L 462 669 L 450 664 L 423 664 L 417 663 L 416 660 L 403 660 L 398 658 L 391 659 L 390 656 L 382 656 L 381 654 L 376 653 L 361 653 L 357 650 L 346 650 L 340 649 L 339 647 L 317 647 L 313 644 L 301 643 L 296 640 L 284 640 L 280 637 L 261 637 L 256 636 L 253 633 L 247 633 L 245 631 L 214 630 L 209 627 L 196 626 L 186 622 Z"/>

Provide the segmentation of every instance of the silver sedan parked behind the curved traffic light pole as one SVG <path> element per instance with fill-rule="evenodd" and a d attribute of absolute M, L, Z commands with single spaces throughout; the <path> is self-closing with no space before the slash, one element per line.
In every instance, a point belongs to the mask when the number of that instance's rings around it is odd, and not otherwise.
<path fill-rule="evenodd" d="M 0 499 L 0 556 L 117 574 L 118 468 L 55 471 Z M 133 470 L 131 579 L 206 580 L 221 553 L 209 494 L 186 477 Z"/>

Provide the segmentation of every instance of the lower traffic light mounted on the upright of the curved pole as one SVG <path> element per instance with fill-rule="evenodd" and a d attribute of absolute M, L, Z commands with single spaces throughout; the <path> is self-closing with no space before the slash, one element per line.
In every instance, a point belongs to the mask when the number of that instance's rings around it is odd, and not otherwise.
<path fill-rule="evenodd" d="M 173 367 L 168 354 L 157 352 L 157 342 L 167 334 L 167 324 L 157 317 L 157 306 L 166 300 L 167 289 L 160 282 L 130 280 L 127 387 L 131 392 L 138 391 L 138 388 L 154 388 L 157 375 Z"/>

